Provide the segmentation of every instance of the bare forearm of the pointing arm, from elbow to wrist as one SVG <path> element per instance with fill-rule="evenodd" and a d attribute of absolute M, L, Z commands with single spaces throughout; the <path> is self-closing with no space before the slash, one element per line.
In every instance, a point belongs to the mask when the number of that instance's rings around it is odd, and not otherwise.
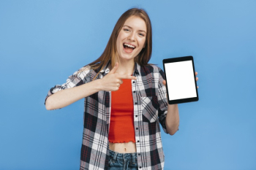
<path fill-rule="evenodd" d="M 59 109 L 97 93 L 101 89 L 100 80 L 94 80 L 75 88 L 67 88 L 49 96 L 45 102 L 46 109 Z"/>

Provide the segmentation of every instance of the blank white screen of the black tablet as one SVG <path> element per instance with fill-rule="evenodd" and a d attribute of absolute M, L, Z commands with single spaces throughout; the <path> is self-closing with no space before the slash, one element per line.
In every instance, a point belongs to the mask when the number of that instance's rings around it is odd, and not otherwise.
<path fill-rule="evenodd" d="M 165 63 L 169 100 L 197 96 L 192 61 Z"/>

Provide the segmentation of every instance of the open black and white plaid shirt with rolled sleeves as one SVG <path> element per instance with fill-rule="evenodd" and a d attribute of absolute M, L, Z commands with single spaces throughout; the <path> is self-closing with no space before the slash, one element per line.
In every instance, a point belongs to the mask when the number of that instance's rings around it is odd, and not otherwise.
<path fill-rule="evenodd" d="M 100 71 L 97 79 L 101 79 L 110 72 L 109 65 L 110 62 L 105 66 L 105 69 Z M 92 70 L 87 66 L 83 72 L 75 72 L 69 76 L 63 85 L 56 85 L 51 88 L 48 96 L 59 90 L 91 82 L 97 72 L 99 70 Z M 143 170 L 163 169 L 165 155 L 162 150 L 159 123 L 167 133 L 165 125 L 167 115 L 166 88 L 162 84 L 165 74 L 157 66 L 140 66 L 135 63 L 133 76 L 137 77 L 137 80 L 131 81 L 138 168 Z M 110 91 L 101 90 L 85 98 L 80 170 L 108 169 L 110 106 Z"/>

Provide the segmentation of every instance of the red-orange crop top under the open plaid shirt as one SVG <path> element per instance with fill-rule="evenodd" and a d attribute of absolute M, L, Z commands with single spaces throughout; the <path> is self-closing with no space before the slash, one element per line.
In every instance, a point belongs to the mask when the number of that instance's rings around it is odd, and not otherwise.
<path fill-rule="evenodd" d="M 119 90 L 111 91 L 108 141 L 111 143 L 135 142 L 131 80 L 124 79 Z"/>

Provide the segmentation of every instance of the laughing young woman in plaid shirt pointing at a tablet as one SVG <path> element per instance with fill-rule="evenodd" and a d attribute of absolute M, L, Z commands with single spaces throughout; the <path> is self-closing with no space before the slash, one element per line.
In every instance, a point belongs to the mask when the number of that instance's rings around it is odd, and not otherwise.
<path fill-rule="evenodd" d="M 102 55 L 48 92 L 46 109 L 85 98 L 80 169 L 164 168 L 159 123 L 175 134 L 178 105 L 167 104 L 164 73 L 148 64 L 151 50 L 147 13 L 129 9 Z"/>

